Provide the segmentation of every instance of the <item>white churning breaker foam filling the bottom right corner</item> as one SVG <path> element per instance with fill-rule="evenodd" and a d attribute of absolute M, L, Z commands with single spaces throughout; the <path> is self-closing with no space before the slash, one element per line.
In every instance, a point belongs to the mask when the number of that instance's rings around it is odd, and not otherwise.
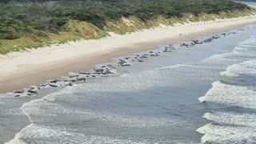
<path fill-rule="evenodd" d="M 234 112 L 206 113 L 204 118 L 219 125 L 207 124 L 197 131 L 204 136 L 202 143 L 255 143 L 256 114 Z"/>

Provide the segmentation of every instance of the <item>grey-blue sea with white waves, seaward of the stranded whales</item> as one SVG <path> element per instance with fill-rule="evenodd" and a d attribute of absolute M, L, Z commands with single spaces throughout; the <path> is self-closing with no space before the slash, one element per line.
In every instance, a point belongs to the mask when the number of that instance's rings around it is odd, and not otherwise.
<path fill-rule="evenodd" d="M 256 143 L 254 27 L 58 91 L 1 94 L 0 143 Z"/>

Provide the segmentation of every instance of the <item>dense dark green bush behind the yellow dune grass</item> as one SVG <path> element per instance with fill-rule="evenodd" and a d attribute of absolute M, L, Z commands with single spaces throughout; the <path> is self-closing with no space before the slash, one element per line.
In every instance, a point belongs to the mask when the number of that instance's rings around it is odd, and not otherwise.
<path fill-rule="evenodd" d="M 26 36 L 33 30 L 58 33 L 70 19 L 103 29 L 108 20 L 135 16 L 143 21 L 183 14 L 218 14 L 249 9 L 228 0 L 0 0 L 0 39 Z"/>

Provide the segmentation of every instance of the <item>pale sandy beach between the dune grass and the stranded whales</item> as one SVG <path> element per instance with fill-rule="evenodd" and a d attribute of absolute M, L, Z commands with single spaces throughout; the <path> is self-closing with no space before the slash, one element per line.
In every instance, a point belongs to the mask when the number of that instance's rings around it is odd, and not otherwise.
<path fill-rule="evenodd" d="M 156 49 L 160 44 L 189 41 L 256 23 L 256 15 L 209 22 L 161 26 L 131 34 L 69 42 L 0 56 L 0 93 L 20 90 L 59 78 L 71 71 L 90 70 L 111 58 Z M 180 35 L 182 34 L 182 35 Z"/>

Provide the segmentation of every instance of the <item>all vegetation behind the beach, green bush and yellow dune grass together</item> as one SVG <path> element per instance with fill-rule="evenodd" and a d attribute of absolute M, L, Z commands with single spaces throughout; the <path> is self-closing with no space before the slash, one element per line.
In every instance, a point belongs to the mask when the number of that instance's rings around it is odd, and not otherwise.
<path fill-rule="evenodd" d="M 0 0 L 0 54 L 252 13 L 229 0 Z"/>

